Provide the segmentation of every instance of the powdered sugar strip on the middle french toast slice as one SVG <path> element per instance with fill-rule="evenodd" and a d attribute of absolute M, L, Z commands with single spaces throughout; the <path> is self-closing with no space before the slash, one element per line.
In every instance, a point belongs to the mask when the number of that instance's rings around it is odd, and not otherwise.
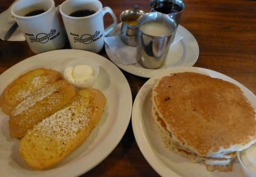
<path fill-rule="evenodd" d="M 52 87 L 51 84 L 46 85 L 42 89 L 37 90 L 33 95 L 23 100 L 13 109 L 13 112 L 12 112 L 13 116 L 17 116 L 23 111 L 28 110 L 30 107 L 33 107 L 35 103 L 43 100 L 44 98 L 46 98 L 47 96 L 49 96 L 55 91 L 56 91 L 56 87 Z"/>

